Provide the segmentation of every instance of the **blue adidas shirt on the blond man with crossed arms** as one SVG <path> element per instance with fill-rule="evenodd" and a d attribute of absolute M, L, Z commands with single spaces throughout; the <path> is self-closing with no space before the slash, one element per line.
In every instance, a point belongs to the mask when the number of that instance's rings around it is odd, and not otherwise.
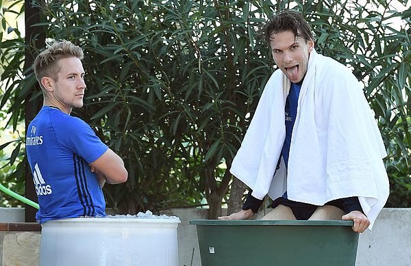
<path fill-rule="evenodd" d="M 41 224 L 84 215 L 105 216 L 103 191 L 88 163 L 108 150 L 86 122 L 55 107 L 42 107 L 29 124 L 26 150 Z"/>

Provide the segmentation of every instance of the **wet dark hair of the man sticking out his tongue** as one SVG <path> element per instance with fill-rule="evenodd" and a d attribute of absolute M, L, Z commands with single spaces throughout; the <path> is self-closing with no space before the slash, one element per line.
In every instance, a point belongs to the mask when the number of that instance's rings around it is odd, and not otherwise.
<path fill-rule="evenodd" d="M 310 25 L 301 13 L 295 10 L 284 10 L 269 18 L 263 29 L 266 42 L 270 45 L 271 35 L 283 31 L 292 31 L 295 38 L 301 37 L 306 41 L 314 40 Z"/>

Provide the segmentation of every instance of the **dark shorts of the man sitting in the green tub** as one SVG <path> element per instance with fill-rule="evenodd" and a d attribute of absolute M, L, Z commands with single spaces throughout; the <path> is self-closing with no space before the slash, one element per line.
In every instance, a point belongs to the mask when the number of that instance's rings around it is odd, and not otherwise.
<path fill-rule="evenodd" d="M 274 209 L 280 204 L 290 207 L 292 213 L 295 216 L 295 219 L 297 220 L 308 220 L 308 218 L 311 217 L 312 213 L 314 213 L 314 211 L 319 207 L 317 205 L 292 201 L 282 197 L 276 198 L 273 203 L 271 203 L 271 207 Z M 343 200 L 332 200 L 325 203 L 325 205 L 332 205 L 344 211 Z"/>

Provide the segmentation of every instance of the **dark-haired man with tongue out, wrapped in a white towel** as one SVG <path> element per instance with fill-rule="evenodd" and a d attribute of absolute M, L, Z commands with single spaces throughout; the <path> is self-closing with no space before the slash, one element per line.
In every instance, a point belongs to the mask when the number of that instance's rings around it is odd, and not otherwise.
<path fill-rule="evenodd" d="M 275 64 L 282 72 L 275 71 L 264 88 L 256 114 L 230 169 L 234 176 L 250 187 L 247 200 L 240 212 L 219 219 L 253 219 L 263 202 L 262 198 L 268 193 L 273 198 L 273 210 L 262 217 L 263 220 L 353 220 L 353 230 L 364 232 L 388 198 L 388 178 L 382 163 L 384 151 L 380 155 L 379 150 L 356 148 L 360 146 L 355 144 L 356 136 L 347 137 L 348 133 L 344 133 L 355 131 L 356 128 L 349 121 L 351 118 L 345 121 L 345 110 L 341 110 L 340 106 L 347 106 L 349 109 L 351 102 L 359 101 L 366 113 L 354 110 L 353 114 L 368 115 L 369 106 L 364 101 L 358 81 L 345 66 L 314 51 L 314 37 L 310 26 L 298 12 L 286 10 L 273 16 L 266 24 L 264 34 Z M 325 63 L 321 65 L 322 62 Z M 338 76 L 339 72 L 343 74 Z M 330 73 L 333 77 L 328 85 L 327 75 Z M 347 79 L 355 88 L 358 87 L 356 92 L 345 88 L 351 87 L 351 84 L 344 85 Z M 338 82 L 341 83 L 341 88 L 334 89 L 338 87 Z M 348 98 L 346 101 L 345 98 L 336 96 L 340 92 L 334 90 L 343 90 L 343 95 L 350 94 L 353 99 Z M 279 100 L 276 102 L 277 98 Z M 336 107 L 333 106 L 334 103 Z M 285 130 L 282 129 L 282 114 L 285 115 Z M 347 117 L 349 114 L 351 111 L 347 111 Z M 382 139 L 375 120 L 368 117 L 364 120 L 371 123 L 369 128 L 375 129 L 365 129 L 366 134 L 375 135 L 375 143 L 371 146 L 381 147 Z M 345 122 L 338 122 L 335 126 L 334 121 Z M 340 124 L 347 128 L 339 127 Z M 364 141 L 360 140 L 361 142 Z M 336 146 L 333 149 L 334 143 Z M 343 148 L 340 149 L 338 145 Z M 375 156 L 363 165 L 371 165 L 367 171 L 380 172 L 379 176 L 369 176 L 365 172 L 366 177 L 363 178 L 363 174 L 356 174 L 366 171 L 366 167 L 358 166 L 356 160 L 350 159 L 350 151 L 347 155 L 344 154 L 344 146 L 351 145 L 354 147 L 353 156 L 358 152 L 359 158 L 374 152 Z M 312 163 L 307 163 L 308 161 Z M 353 172 L 356 168 L 364 169 Z M 284 182 L 277 177 L 281 172 L 285 176 Z M 361 186 L 376 189 L 371 191 L 372 189 L 362 189 Z M 364 214 L 363 206 L 366 213 L 371 215 L 370 219 Z M 370 211 L 372 208 L 377 211 Z"/>

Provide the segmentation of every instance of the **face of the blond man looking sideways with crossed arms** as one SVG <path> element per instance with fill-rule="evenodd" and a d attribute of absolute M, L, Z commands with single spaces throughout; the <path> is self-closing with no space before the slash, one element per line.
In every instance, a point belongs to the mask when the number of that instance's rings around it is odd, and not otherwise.
<path fill-rule="evenodd" d="M 54 98 L 63 107 L 62 111 L 70 114 L 71 109 L 83 106 L 84 69 L 83 64 L 77 57 L 63 58 L 58 61 L 60 72 L 58 80 L 54 81 Z"/>

